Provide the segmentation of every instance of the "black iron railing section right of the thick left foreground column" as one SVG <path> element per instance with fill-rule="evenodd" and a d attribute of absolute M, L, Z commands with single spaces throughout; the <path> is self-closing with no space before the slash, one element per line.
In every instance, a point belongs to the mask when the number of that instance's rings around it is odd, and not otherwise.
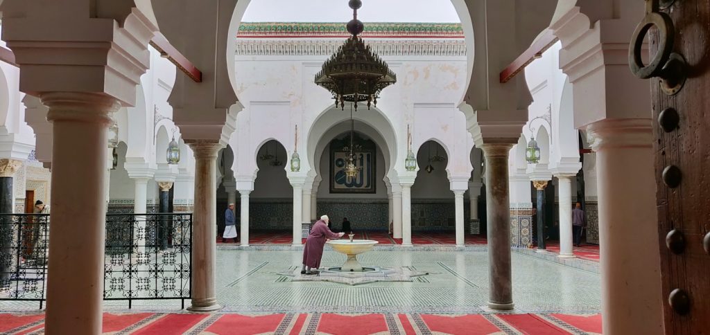
<path fill-rule="evenodd" d="M 104 300 L 190 299 L 192 214 L 106 217 Z"/>

